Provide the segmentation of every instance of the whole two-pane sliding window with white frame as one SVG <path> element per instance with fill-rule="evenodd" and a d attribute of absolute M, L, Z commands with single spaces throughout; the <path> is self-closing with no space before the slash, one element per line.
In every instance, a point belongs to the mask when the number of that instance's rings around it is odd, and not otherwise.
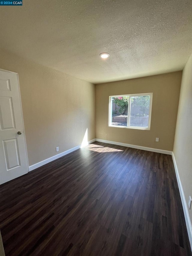
<path fill-rule="evenodd" d="M 109 126 L 150 130 L 152 93 L 109 97 Z"/>

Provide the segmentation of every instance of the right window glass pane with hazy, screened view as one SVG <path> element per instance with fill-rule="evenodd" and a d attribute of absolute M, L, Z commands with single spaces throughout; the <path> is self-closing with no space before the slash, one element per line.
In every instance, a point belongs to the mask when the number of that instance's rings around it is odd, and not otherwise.
<path fill-rule="evenodd" d="M 148 127 L 150 95 L 130 97 L 129 126 Z"/>

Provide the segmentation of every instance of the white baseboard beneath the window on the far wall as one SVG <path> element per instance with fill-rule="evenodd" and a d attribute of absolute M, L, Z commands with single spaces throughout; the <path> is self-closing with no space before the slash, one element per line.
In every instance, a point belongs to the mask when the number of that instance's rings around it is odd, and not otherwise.
<path fill-rule="evenodd" d="M 110 141 L 110 140 L 100 140 L 100 139 L 95 139 L 95 140 L 99 141 L 99 142 L 104 142 L 104 143 L 109 143 L 109 144 L 114 144 L 114 145 L 134 148 L 134 149 L 141 149 L 141 150 L 157 152 L 157 153 L 162 153 L 162 154 L 167 154 L 167 155 L 171 155 L 172 154 L 172 151 L 163 150 L 163 149 L 147 148 L 147 147 L 143 147 L 143 146 L 131 145 L 131 144 L 127 144 L 127 143 L 121 143 L 121 142 Z"/>

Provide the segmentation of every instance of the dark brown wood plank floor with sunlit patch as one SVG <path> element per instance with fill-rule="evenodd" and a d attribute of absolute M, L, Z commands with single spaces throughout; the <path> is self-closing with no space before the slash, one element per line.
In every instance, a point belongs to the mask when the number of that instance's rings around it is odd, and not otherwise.
<path fill-rule="evenodd" d="M 5 255 L 191 256 L 172 157 L 92 143 L 0 186 Z"/>

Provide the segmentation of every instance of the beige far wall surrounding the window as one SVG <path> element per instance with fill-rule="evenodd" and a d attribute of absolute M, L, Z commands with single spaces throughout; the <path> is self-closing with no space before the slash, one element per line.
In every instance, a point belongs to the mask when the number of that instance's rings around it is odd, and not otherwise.
<path fill-rule="evenodd" d="M 179 71 L 96 85 L 96 138 L 172 151 L 181 77 Z M 150 131 L 108 126 L 109 96 L 149 92 L 153 93 Z"/>

